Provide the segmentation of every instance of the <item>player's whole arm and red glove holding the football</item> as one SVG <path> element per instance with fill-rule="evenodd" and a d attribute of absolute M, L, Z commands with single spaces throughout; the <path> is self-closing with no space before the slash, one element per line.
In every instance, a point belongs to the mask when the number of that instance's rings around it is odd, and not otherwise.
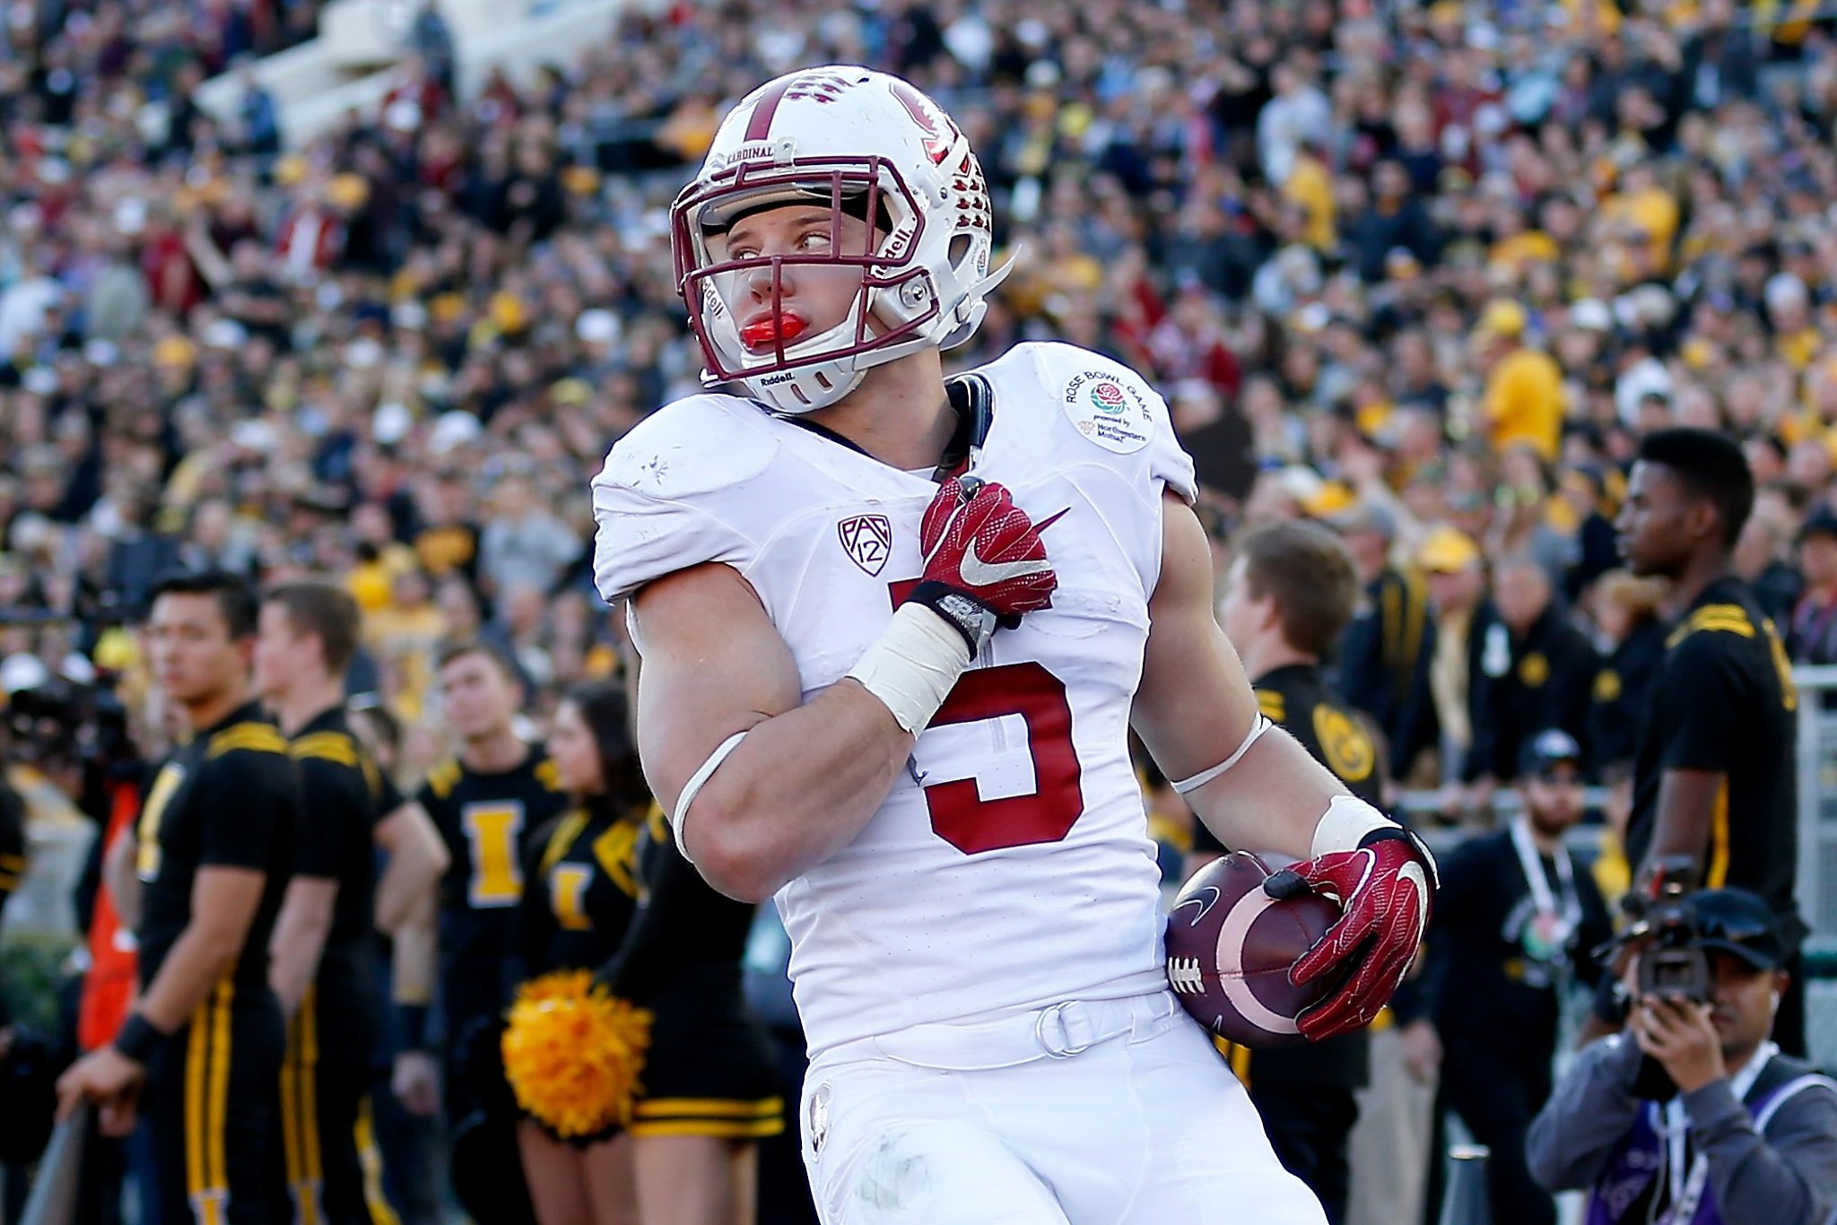
<path fill-rule="evenodd" d="M 1222 843 L 1295 854 L 1304 860 L 1301 878 L 1339 902 L 1339 922 L 1293 975 L 1301 984 L 1345 970 L 1347 981 L 1302 1014 L 1301 1032 L 1319 1040 L 1369 1025 L 1422 944 L 1435 861 L 1257 711 L 1212 615 L 1205 529 L 1172 494 L 1163 494 L 1161 575 L 1148 617 L 1137 731 Z"/>

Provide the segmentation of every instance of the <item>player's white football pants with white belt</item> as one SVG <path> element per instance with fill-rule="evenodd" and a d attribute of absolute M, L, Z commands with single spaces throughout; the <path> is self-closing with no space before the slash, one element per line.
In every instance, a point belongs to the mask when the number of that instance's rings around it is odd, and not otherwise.
<path fill-rule="evenodd" d="M 823 1225 L 1324 1225 L 1166 992 L 845 1043 L 799 1118 Z"/>

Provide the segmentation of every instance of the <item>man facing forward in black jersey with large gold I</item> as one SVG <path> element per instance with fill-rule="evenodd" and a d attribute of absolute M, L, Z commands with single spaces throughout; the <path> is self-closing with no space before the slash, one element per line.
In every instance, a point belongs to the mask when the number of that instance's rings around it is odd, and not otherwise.
<path fill-rule="evenodd" d="M 434 817 L 450 854 L 439 889 L 437 940 L 445 1063 L 437 1067 L 428 1056 L 406 1052 L 397 1089 L 415 1091 L 417 1082 L 439 1076 L 448 1126 L 459 1131 L 485 1106 L 461 1074 L 459 1060 L 468 1036 L 494 1021 L 505 1003 L 503 964 L 511 920 L 524 896 L 525 850 L 535 830 L 568 806 L 568 795 L 542 749 L 516 736 L 524 691 L 509 659 L 479 641 L 456 643 L 439 656 L 437 683 L 446 727 L 461 749 L 457 759 L 428 771 L 415 799 Z M 404 1032 L 415 1030 L 417 1019 L 404 1012 Z M 479 1146 L 496 1148 L 496 1142 Z M 505 1148 L 514 1179 L 518 1164 L 509 1137 Z M 456 1157 L 456 1175 L 476 1174 L 463 1164 Z M 527 1218 L 527 1203 L 516 1203 L 522 1190 L 505 1196 L 511 1203 L 498 1205 L 494 1219 Z"/>

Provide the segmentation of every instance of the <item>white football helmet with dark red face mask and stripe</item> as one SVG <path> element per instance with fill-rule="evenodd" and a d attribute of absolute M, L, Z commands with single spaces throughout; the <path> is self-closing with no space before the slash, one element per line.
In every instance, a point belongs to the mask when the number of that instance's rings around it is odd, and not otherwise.
<path fill-rule="evenodd" d="M 838 219 L 827 252 L 715 263 L 709 235 L 742 213 L 799 200 L 827 204 Z M 843 213 L 876 226 L 873 252 L 841 250 Z M 676 290 L 707 360 L 704 382 L 738 380 L 784 413 L 834 404 L 882 362 L 963 343 L 1005 274 L 988 272 L 988 185 L 970 141 L 906 81 L 847 64 L 794 72 L 748 94 L 676 197 L 671 237 Z M 849 314 L 810 336 L 786 327 L 777 309 L 781 275 L 801 266 L 860 275 Z M 742 338 L 742 316 L 761 294 L 772 323 Z"/>

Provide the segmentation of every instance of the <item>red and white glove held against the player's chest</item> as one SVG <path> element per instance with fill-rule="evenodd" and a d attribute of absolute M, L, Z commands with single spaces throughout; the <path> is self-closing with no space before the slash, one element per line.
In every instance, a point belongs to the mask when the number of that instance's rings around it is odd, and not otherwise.
<path fill-rule="evenodd" d="M 996 626 L 1012 630 L 1023 613 L 1051 608 L 1058 575 L 1040 533 L 1060 514 L 1034 523 L 1003 485 L 950 478 L 918 523 L 924 579 L 907 599 L 957 626 L 974 656 Z"/>

